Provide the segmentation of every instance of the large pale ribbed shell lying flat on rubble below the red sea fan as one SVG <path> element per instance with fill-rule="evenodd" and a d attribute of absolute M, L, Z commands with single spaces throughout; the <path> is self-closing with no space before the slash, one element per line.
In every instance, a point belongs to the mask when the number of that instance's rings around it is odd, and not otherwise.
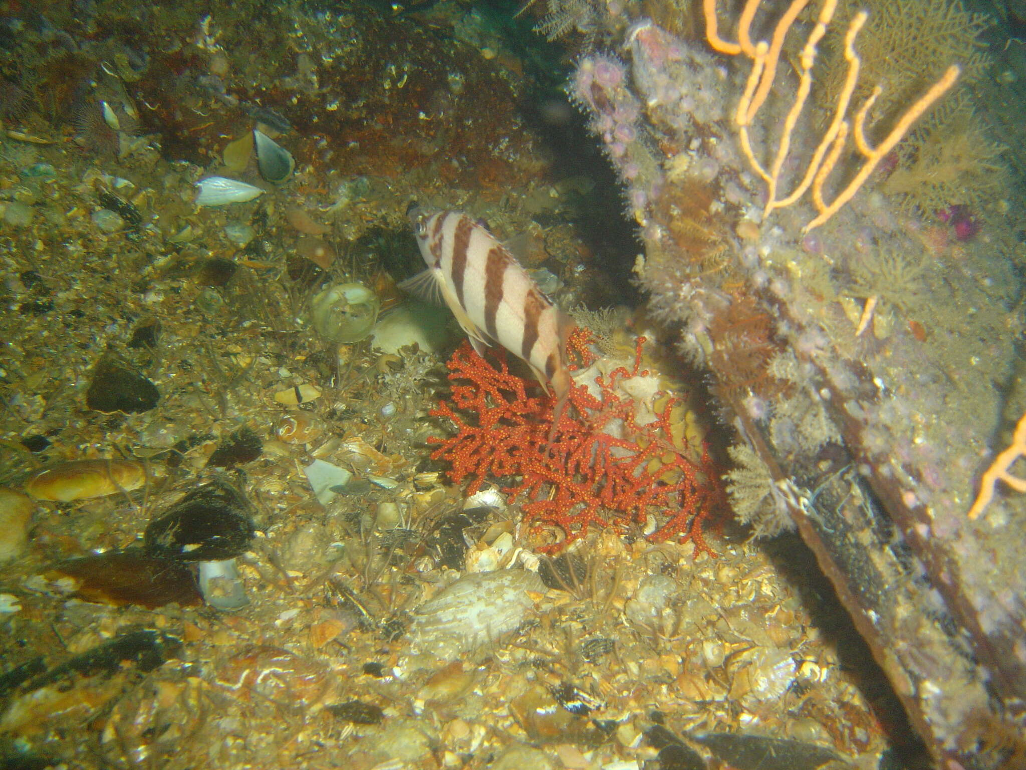
<path fill-rule="evenodd" d="M 534 610 L 530 593 L 544 591 L 542 578 L 526 570 L 464 575 L 413 610 L 413 649 L 447 660 L 495 643 Z"/>

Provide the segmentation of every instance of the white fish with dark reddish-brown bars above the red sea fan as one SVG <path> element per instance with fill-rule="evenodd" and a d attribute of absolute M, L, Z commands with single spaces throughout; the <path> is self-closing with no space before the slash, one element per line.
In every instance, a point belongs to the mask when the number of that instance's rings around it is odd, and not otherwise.
<path fill-rule="evenodd" d="M 519 356 L 542 387 L 556 395 L 551 444 L 571 380 L 568 315 L 549 302 L 527 272 L 487 228 L 462 211 L 409 211 L 428 269 L 400 287 L 448 305 L 474 350 L 498 343 Z"/>

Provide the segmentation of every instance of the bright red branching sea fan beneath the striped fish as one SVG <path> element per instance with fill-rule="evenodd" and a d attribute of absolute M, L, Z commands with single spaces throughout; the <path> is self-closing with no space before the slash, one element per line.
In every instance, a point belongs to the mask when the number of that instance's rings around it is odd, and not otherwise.
<path fill-rule="evenodd" d="M 559 419 L 551 450 L 553 398 L 529 396 L 531 383 L 509 371 L 502 351 L 497 369 L 464 344 L 447 364 L 451 399 L 431 412 L 450 420 L 457 433 L 435 439 L 431 457 L 451 463 L 453 483 L 469 477 L 470 494 L 488 477 L 513 477 L 504 492 L 523 500 L 527 521 L 566 535 L 548 550 L 583 537 L 592 525 L 626 532 L 654 516 L 649 540 L 690 540 L 696 555 L 715 555 L 702 528 L 727 509 L 723 489 L 707 452 L 695 459 L 675 446 L 670 415 L 678 401 L 669 399 L 655 422 L 637 426 L 633 401 L 616 392 L 618 381 L 647 376 L 639 371 L 643 342 L 638 339 L 632 371 L 621 367 L 595 378 L 599 396 L 587 385 L 571 389 L 571 408 Z M 571 347 L 590 356 L 581 333 Z"/>

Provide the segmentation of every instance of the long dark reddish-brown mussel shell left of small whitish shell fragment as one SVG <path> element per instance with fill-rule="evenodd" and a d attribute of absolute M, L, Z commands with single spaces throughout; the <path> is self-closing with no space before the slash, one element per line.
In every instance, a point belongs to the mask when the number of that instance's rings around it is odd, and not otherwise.
<path fill-rule="evenodd" d="M 141 548 L 72 559 L 48 575 L 73 578 L 78 585 L 74 595 L 86 602 L 139 605 L 151 610 L 172 602 L 183 607 L 203 603 L 187 565 L 150 555 Z"/>

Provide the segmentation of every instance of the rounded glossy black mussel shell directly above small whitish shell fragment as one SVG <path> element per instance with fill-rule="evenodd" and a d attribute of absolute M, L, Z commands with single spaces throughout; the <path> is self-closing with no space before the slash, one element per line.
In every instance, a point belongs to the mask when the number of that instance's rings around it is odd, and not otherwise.
<path fill-rule="evenodd" d="M 253 524 L 245 501 L 228 485 L 210 484 L 190 492 L 144 536 L 147 550 L 183 562 L 221 562 L 249 548 Z"/>

